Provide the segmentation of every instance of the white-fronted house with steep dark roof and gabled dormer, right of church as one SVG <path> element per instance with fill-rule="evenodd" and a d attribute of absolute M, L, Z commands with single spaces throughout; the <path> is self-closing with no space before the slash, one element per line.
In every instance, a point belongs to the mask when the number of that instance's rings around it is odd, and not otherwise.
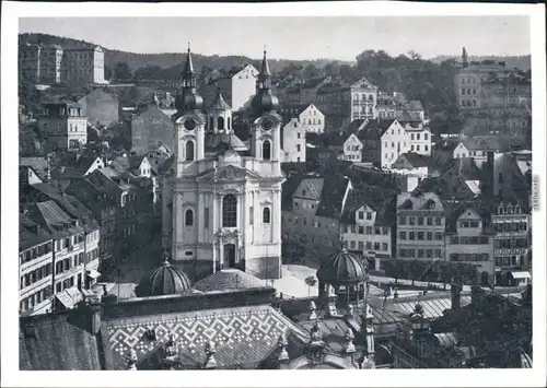
<path fill-rule="evenodd" d="M 341 219 L 340 237 L 346 248 L 358 250 L 372 270 L 383 269 L 393 257 L 395 196 L 370 187 L 350 190 Z"/>

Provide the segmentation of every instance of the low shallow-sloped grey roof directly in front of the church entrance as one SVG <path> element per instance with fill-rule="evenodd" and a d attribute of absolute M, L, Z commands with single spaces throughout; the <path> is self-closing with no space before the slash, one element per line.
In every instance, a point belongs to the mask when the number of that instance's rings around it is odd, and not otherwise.
<path fill-rule="evenodd" d="M 257 289 L 263 286 L 266 286 L 266 283 L 252 274 L 237 269 L 224 269 L 200 280 L 194 285 L 194 289 L 201 292 L 210 292 Z"/>

